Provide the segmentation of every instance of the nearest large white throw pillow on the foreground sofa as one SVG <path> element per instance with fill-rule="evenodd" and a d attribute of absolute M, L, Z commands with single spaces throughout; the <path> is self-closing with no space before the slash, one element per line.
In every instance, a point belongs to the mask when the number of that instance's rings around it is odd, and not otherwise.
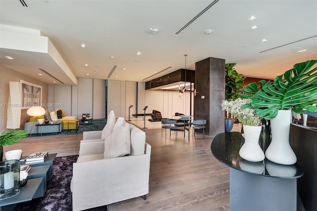
<path fill-rule="evenodd" d="M 113 126 L 112 134 L 105 139 L 104 158 L 122 157 L 130 154 L 130 152 L 130 127 L 124 118 L 119 117 Z"/>

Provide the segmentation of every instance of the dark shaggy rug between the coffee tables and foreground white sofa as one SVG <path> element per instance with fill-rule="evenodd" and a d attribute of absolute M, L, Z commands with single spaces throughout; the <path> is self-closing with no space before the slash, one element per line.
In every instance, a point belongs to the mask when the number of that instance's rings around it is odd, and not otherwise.
<path fill-rule="evenodd" d="M 73 174 L 73 162 L 78 156 L 57 157 L 53 161 L 53 177 L 47 183 L 42 198 L 18 204 L 14 211 L 71 211 L 72 193 L 70 181 Z M 106 206 L 89 211 L 106 211 Z"/>

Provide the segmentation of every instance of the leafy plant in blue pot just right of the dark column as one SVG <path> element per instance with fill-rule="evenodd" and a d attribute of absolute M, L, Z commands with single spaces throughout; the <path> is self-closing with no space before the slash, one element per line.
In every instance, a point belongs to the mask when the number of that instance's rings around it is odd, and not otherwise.
<path fill-rule="evenodd" d="M 241 88 L 243 88 L 242 83 L 246 77 L 242 77 L 242 74 L 237 73 L 234 69 L 236 63 L 225 64 L 225 95 L 224 99 L 226 101 L 232 101 L 238 98 Z M 229 132 L 233 127 L 233 118 L 228 116 L 225 117 L 224 130 Z"/>

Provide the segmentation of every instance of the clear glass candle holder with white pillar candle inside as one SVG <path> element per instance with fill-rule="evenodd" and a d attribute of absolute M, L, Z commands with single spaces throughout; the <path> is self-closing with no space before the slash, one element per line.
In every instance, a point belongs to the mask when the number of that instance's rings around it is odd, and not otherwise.
<path fill-rule="evenodd" d="M 0 162 L 0 200 L 17 195 L 20 190 L 20 161 L 11 159 Z"/>

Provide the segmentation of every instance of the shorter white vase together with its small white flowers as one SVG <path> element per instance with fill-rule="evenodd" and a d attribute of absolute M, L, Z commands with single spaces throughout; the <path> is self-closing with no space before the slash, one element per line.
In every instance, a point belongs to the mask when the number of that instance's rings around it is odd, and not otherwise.
<path fill-rule="evenodd" d="M 264 152 L 259 145 L 262 117 L 257 115 L 256 109 L 243 108 L 243 105 L 250 102 L 250 99 L 241 98 L 229 102 L 224 100 L 221 107 L 222 110 L 226 110 L 237 117 L 243 124 L 245 142 L 239 151 L 241 158 L 251 162 L 258 162 L 265 158 Z"/>

